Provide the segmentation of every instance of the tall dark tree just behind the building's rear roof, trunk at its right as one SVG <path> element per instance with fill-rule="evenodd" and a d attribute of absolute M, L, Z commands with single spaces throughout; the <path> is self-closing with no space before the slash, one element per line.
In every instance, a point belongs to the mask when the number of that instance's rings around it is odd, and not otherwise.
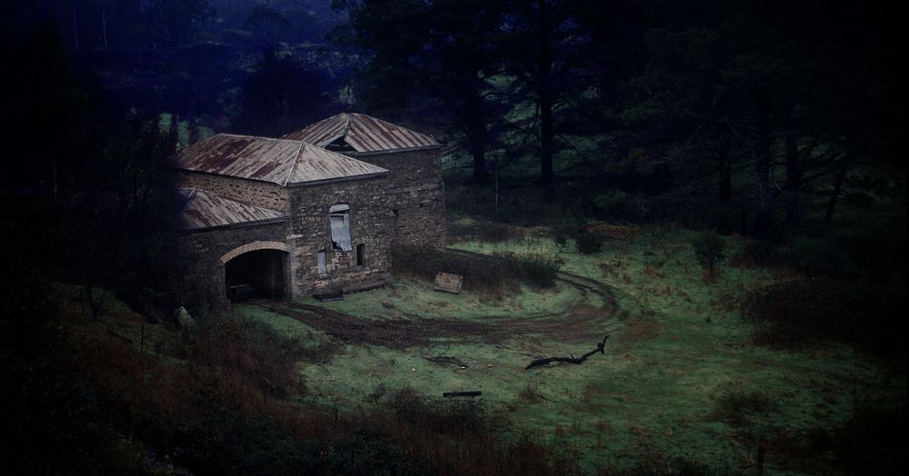
<path fill-rule="evenodd" d="M 496 115 L 489 77 L 502 15 L 501 2 L 483 0 L 373 0 L 351 11 L 355 44 L 371 55 L 361 75 L 365 105 L 391 115 L 432 109 L 464 134 L 477 182 L 489 174 Z"/>

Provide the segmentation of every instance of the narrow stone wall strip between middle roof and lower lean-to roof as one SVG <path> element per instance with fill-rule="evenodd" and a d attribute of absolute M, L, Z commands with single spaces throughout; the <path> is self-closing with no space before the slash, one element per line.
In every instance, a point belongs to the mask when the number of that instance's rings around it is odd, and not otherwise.
<path fill-rule="evenodd" d="M 225 198 L 280 212 L 286 212 L 290 204 L 287 189 L 277 183 L 187 170 L 177 171 L 177 180 L 184 188 L 201 188 Z"/>

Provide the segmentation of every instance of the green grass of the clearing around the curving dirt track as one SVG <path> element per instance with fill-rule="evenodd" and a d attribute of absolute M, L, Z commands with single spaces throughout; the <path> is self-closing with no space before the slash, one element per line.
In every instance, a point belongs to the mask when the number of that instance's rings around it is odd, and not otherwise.
<path fill-rule="evenodd" d="M 590 472 L 642 464 L 668 467 L 682 458 L 732 473 L 754 471 L 759 444 L 767 448 L 765 471 L 809 471 L 786 463 L 791 445 L 781 441 L 804 441 L 813 432 L 838 428 L 856 405 L 871 397 L 884 404 L 904 401 L 904 371 L 892 371 L 849 347 L 830 344 L 786 352 L 755 346 L 737 302 L 779 276 L 722 265 L 716 281 L 705 283 L 690 245 L 693 236 L 650 228 L 607 241 L 593 255 L 577 253 L 571 241 L 559 248 L 533 234 L 513 242 L 455 243 L 478 253 L 556 256 L 564 262 L 564 272 L 608 284 L 622 315 L 595 321 L 589 342 L 550 332 L 515 333 L 495 344 L 442 339 L 405 351 L 345 345 L 330 362 L 301 364 L 308 389 L 302 398 L 354 410 L 369 406 L 370 394 L 380 387 L 410 386 L 427 396 L 479 390 L 486 404 L 507 417 L 506 438 L 530 434 L 564 445 L 577 451 Z M 727 245 L 733 253 L 744 243 L 733 238 Z M 604 302 L 602 296 L 564 282 L 552 292 L 522 288 L 496 298 L 435 293 L 429 283 L 396 281 L 320 305 L 365 319 L 495 322 L 505 316 L 571 319 L 575 307 Z M 293 335 L 317 335 L 302 323 L 261 309 L 242 312 Z M 576 356 L 593 349 L 599 339 L 593 333 L 601 329 L 611 334 L 604 355 L 583 365 L 524 371 L 537 357 Z M 438 356 L 456 363 L 429 360 Z M 831 455 L 813 458 L 811 471 L 833 464 Z"/>

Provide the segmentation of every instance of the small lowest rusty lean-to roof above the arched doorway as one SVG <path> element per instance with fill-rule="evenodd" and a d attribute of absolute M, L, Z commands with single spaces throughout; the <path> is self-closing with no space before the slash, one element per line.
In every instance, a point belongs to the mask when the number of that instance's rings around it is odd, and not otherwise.
<path fill-rule="evenodd" d="M 285 220 L 287 215 L 249 203 L 237 202 L 201 189 L 181 189 L 185 199 L 180 222 L 186 231 L 203 230 L 241 223 L 267 223 Z"/>

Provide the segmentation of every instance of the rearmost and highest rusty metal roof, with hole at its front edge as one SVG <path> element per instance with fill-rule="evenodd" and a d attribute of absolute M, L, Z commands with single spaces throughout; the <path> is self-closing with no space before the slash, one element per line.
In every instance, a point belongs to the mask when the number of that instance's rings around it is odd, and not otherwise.
<path fill-rule="evenodd" d="M 333 115 L 299 131 L 285 134 L 283 138 L 305 141 L 320 147 L 329 146 L 341 139 L 353 149 L 355 155 L 442 146 L 429 135 L 420 134 L 366 114 L 356 113 Z"/>

